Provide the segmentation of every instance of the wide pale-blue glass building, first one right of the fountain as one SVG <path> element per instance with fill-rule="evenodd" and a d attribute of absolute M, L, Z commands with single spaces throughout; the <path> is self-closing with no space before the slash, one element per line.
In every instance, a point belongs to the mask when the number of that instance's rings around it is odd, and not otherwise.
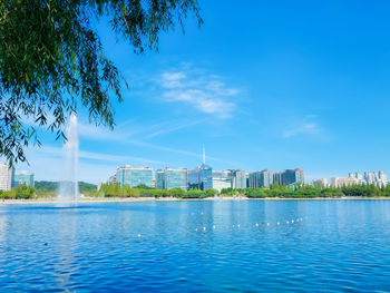
<path fill-rule="evenodd" d="M 120 186 L 137 187 L 146 185 L 153 187 L 153 170 L 150 167 L 123 166 L 117 168 L 116 180 Z"/>

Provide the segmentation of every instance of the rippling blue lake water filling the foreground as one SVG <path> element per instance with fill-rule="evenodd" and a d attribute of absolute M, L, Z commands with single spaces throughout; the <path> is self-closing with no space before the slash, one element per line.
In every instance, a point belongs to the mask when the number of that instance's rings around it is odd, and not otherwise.
<path fill-rule="evenodd" d="M 390 292 L 390 201 L 0 206 L 0 292 L 43 290 Z"/>

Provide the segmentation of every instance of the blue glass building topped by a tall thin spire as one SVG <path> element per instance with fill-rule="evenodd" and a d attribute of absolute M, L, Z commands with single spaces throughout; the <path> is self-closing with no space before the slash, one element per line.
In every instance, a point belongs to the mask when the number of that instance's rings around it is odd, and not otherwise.
<path fill-rule="evenodd" d="M 188 170 L 188 188 L 202 191 L 213 188 L 213 168 L 206 165 L 206 153 L 203 146 L 203 164 L 201 167 Z"/>

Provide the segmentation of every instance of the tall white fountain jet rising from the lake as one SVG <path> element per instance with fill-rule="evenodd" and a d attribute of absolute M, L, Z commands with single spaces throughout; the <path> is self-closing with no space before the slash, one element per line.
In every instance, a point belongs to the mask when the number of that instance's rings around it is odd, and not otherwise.
<path fill-rule="evenodd" d="M 65 131 L 67 140 L 64 144 L 64 168 L 62 179 L 57 194 L 58 202 L 76 202 L 79 197 L 78 191 L 78 131 L 77 116 L 72 113 L 69 125 Z"/>

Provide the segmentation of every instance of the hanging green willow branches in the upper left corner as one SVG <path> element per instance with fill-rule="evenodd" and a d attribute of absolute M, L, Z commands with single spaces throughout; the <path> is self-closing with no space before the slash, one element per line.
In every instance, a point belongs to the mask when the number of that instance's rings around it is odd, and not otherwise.
<path fill-rule="evenodd" d="M 114 127 L 113 100 L 127 84 L 105 55 L 97 20 L 140 53 L 158 48 L 162 31 L 184 28 L 188 13 L 202 25 L 196 0 L 1 0 L 0 156 L 25 162 L 26 147 L 40 144 L 35 125 L 61 137 L 80 106 Z"/>

